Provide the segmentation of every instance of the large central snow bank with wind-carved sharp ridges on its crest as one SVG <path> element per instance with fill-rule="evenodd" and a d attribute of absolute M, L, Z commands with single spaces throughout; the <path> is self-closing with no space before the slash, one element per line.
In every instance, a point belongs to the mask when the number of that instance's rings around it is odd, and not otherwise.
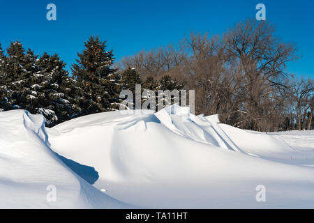
<path fill-rule="evenodd" d="M 304 165 L 304 153 L 281 139 L 220 124 L 218 116 L 194 116 L 188 108 L 177 106 L 155 114 L 106 112 L 73 119 L 47 132 L 53 151 L 94 168 L 89 183 L 132 205 L 314 205 L 314 169 L 308 163 L 314 164 L 314 159 Z M 256 201 L 257 185 L 266 188 L 266 202 Z"/>

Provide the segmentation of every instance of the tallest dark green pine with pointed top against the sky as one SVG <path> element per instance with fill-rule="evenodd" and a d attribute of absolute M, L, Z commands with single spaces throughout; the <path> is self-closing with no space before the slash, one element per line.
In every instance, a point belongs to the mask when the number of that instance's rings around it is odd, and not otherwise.
<path fill-rule="evenodd" d="M 110 68 L 114 62 L 112 51 L 105 50 L 106 42 L 91 36 L 84 43 L 85 49 L 77 53 L 79 59 L 71 68 L 82 91 L 82 114 L 93 114 L 117 109 L 121 77 Z"/>

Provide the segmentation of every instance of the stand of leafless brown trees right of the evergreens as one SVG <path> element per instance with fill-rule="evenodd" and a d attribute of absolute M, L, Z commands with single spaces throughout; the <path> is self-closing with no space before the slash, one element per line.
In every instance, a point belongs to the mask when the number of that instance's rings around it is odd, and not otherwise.
<path fill-rule="evenodd" d="M 142 79 L 169 75 L 195 89 L 195 112 L 258 130 L 313 129 L 313 79 L 285 72 L 298 59 L 294 45 L 275 36 L 269 22 L 247 20 L 222 36 L 190 33 L 167 45 L 121 59 Z"/>

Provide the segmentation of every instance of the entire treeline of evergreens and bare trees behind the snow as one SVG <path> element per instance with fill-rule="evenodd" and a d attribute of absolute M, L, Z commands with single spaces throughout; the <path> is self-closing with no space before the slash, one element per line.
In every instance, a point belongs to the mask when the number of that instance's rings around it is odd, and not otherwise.
<path fill-rule="evenodd" d="M 259 131 L 313 129 L 313 79 L 285 72 L 297 59 L 268 22 L 246 21 L 222 36 L 191 33 L 179 44 L 128 56 L 114 54 L 91 36 L 71 74 L 57 54 L 36 55 L 20 42 L 0 45 L 0 111 L 43 114 L 47 126 L 119 109 L 124 89 L 195 90 L 196 114 Z M 157 95 L 157 93 L 156 93 Z M 144 102 L 145 99 L 142 99 Z"/>

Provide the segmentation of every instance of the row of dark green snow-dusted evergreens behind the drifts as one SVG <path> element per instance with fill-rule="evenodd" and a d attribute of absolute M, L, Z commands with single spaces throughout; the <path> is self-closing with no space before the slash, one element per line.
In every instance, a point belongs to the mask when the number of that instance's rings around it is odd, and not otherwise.
<path fill-rule="evenodd" d="M 84 45 L 71 75 L 57 54 L 38 56 L 31 49 L 25 51 L 20 42 L 10 43 L 5 53 L 0 45 L 0 112 L 27 109 L 43 114 L 52 127 L 78 116 L 119 109 L 120 92 L 135 91 L 135 84 L 154 91 L 181 87 L 167 75 L 142 82 L 134 69 L 112 68 L 113 52 L 99 37 L 91 36 Z"/>

